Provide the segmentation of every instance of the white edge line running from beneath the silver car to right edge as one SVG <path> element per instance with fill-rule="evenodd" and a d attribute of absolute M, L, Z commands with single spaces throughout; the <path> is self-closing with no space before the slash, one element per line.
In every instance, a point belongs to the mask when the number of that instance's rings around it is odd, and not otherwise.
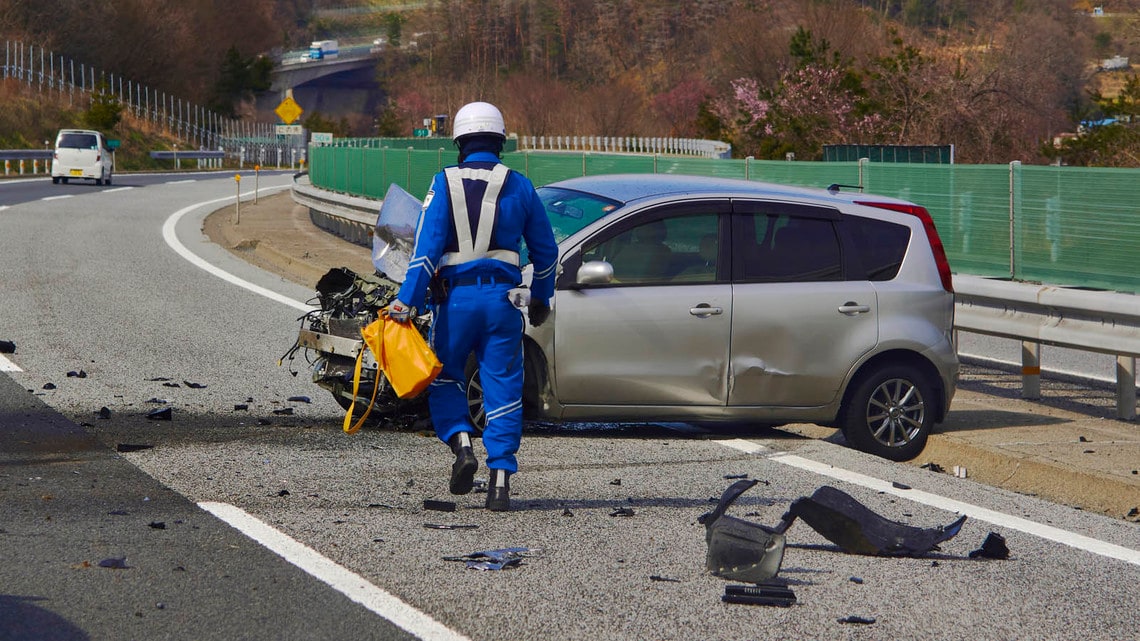
<path fill-rule="evenodd" d="M 740 449 L 749 454 L 756 453 L 754 448 L 749 448 L 747 446 L 741 445 L 740 444 L 741 440 L 742 439 L 722 440 L 717 443 L 724 445 L 725 447 Z M 748 441 L 743 443 L 747 444 Z M 755 446 L 755 444 L 751 445 Z M 1083 534 L 1077 534 L 1075 532 L 1068 532 L 1052 526 L 1034 522 L 1028 519 L 1023 519 L 1020 517 L 1015 517 L 1012 514 L 1007 514 L 1004 512 L 999 512 L 996 510 L 979 508 L 971 503 L 955 501 L 953 498 L 947 498 L 945 496 L 939 496 L 937 494 L 931 494 L 929 492 L 922 492 L 921 489 L 901 489 L 891 485 L 889 481 L 877 479 L 874 477 L 869 477 L 866 474 L 861 474 L 858 472 L 853 472 L 850 470 L 845 470 L 842 468 L 836 468 L 834 465 L 829 465 L 826 463 L 820 463 L 816 461 L 812 461 L 809 459 L 804 459 L 803 456 L 796 456 L 795 454 L 777 454 L 775 456 L 771 456 L 768 460 L 775 461 L 776 463 L 783 463 L 784 465 L 791 465 L 792 468 L 798 468 L 800 470 L 805 470 L 808 472 L 814 472 L 816 474 L 821 474 L 824 477 L 831 477 L 833 479 L 849 482 L 852 485 L 862 486 L 868 489 L 873 489 L 876 492 L 890 494 L 899 498 L 914 501 L 915 503 L 922 503 L 925 505 L 930 505 L 933 508 L 946 510 L 947 512 L 958 512 L 959 514 L 966 514 L 971 519 L 978 519 L 979 521 L 986 521 L 995 526 L 1001 526 L 1009 529 L 1024 532 L 1026 534 L 1032 534 L 1034 536 L 1040 536 L 1041 538 L 1053 541 L 1056 543 L 1061 543 L 1070 547 L 1076 547 L 1077 550 L 1084 550 L 1085 552 L 1092 552 L 1093 554 L 1100 554 L 1101 557 L 1118 559 L 1121 561 L 1126 561 L 1129 563 L 1140 566 L 1140 551 L 1131 550 L 1129 547 L 1124 547 L 1123 545 L 1116 545 L 1114 543 L 1107 543 L 1105 541 L 1092 538 L 1091 536 L 1085 536 Z"/>

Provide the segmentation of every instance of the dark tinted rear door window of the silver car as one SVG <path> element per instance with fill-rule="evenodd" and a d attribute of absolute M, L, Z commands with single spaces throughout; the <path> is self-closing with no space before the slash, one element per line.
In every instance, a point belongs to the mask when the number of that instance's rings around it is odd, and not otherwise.
<path fill-rule="evenodd" d="M 830 220 L 752 214 L 741 238 L 738 278 L 752 282 L 842 279 L 842 254 Z"/>

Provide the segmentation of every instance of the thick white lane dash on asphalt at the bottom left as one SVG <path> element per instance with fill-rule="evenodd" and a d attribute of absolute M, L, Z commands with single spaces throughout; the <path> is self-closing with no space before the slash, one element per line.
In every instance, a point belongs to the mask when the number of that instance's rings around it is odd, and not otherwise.
<path fill-rule="evenodd" d="M 226 521 L 275 554 L 328 584 L 333 590 L 392 622 L 418 639 L 462 641 L 467 638 L 405 603 L 363 576 L 333 562 L 312 547 L 275 529 L 228 503 L 202 502 L 198 506 Z"/>

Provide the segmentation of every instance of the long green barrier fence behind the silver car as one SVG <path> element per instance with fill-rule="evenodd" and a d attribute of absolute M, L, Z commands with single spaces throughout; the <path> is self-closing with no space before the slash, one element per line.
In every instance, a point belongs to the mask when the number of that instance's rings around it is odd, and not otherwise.
<path fill-rule="evenodd" d="M 439 145 L 439 143 L 435 143 Z M 422 198 L 454 148 L 311 147 L 314 186 L 382 198 L 397 184 Z M 913 201 L 930 211 L 955 273 L 1140 292 L 1140 170 L 1072 167 L 785 162 L 663 155 L 511 152 L 536 186 L 602 173 L 683 173 Z"/>

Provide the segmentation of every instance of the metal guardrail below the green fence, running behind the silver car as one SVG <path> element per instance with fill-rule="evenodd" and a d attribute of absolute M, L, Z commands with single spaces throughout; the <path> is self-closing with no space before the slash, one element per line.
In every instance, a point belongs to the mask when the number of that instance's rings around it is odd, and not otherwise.
<path fill-rule="evenodd" d="M 320 189 L 298 175 L 293 201 L 315 225 L 372 246 L 380 203 Z M 954 331 L 1021 341 L 1021 396 L 1041 397 L 1041 346 L 1116 356 L 1116 414 L 1137 417 L 1140 297 L 955 275 Z"/>

